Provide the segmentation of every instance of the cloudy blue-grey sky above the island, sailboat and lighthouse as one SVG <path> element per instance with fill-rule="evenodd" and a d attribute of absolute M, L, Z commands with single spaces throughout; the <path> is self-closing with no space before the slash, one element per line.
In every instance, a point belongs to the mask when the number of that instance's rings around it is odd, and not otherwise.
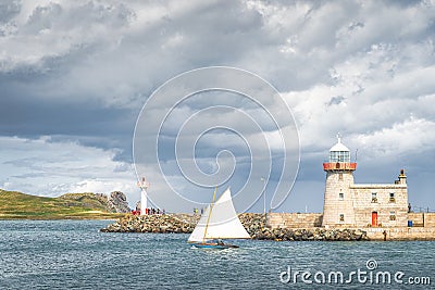
<path fill-rule="evenodd" d="M 322 163 L 337 133 L 357 159 L 356 182 L 394 182 L 405 168 L 414 209 L 435 209 L 434 15 L 430 0 L 3 0 L 0 188 L 46 197 L 120 190 L 133 207 L 140 199 L 133 138 L 147 100 L 182 73 L 229 66 L 273 86 L 289 109 L 275 113 L 288 115 L 298 130 L 299 171 L 276 211 L 322 211 Z M 174 110 L 166 134 L 208 104 L 252 109 L 235 93 L 194 97 Z M 201 124 L 216 121 L 216 114 L 201 117 Z M 276 128 L 264 131 L 279 143 Z M 237 190 L 248 178 L 249 149 L 260 146 L 219 129 L 203 137 L 209 142 L 199 138 L 195 154 L 209 174 L 216 167 L 210 160 L 225 149 L 220 140 L 231 140 L 226 157 L 236 169 L 227 184 Z M 159 150 L 163 165 L 176 161 L 171 149 Z M 158 165 L 149 164 L 147 173 L 156 197 L 166 190 Z M 185 176 L 171 168 L 170 179 L 184 188 Z M 268 205 L 278 175 L 275 168 L 268 177 Z M 204 201 L 211 197 L 208 189 L 187 190 L 207 191 Z M 250 209 L 262 210 L 261 199 Z"/>

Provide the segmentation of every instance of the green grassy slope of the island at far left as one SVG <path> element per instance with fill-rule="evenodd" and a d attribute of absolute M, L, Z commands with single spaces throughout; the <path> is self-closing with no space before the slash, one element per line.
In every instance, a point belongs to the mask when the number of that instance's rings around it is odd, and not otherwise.
<path fill-rule="evenodd" d="M 0 189 L 0 219 L 91 219 L 123 215 L 108 213 L 104 202 L 92 193 L 42 198 Z"/>

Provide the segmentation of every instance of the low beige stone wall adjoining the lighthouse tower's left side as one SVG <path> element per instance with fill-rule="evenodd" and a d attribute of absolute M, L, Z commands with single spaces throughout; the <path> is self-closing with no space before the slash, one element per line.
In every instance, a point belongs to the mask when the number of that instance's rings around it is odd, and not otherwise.
<path fill-rule="evenodd" d="M 269 213 L 270 228 L 313 228 L 322 226 L 322 214 Z"/>

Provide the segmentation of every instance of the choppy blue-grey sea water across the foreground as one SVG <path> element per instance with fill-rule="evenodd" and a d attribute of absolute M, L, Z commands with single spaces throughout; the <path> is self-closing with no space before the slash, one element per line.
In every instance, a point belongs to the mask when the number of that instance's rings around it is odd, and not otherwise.
<path fill-rule="evenodd" d="M 191 249 L 187 235 L 102 234 L 108 220 L 0 220 L 0 289 L 435 289 L 435 242 L 237 241 L 240 249 Z M 368 270 L 366 261 L 377 268 Z M 311 273 L 312 285 L 291 267 Z M 368 272 L 365 283 L 327 282 L 331 272 Z M 370 283 L 401 270 L 403 283 Z M 314 280 L 316 272 L 326 283 Z M 288 279 L 288 275 L 282 275 Z M 321 281 L 322 276 L 316 276 Z M 361 276 L 361 279 L 364 276 Z M 409 277 L 432 285 L 411 286 Z M 380 281 L 382 281 L 380 279 Z"/>

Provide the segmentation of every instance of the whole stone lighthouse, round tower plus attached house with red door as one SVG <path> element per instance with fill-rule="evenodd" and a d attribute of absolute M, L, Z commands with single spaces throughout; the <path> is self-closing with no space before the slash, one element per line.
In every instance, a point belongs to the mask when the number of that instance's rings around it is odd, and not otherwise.
<path fill-rule="evenodd" d="M 353 182 L 357 163 L 350 150 L 338 142 L 331 148 L 326 172 L 324 227 L 407 227 L 407 176 L 401 171 L 394 184 L 358 185 Z"/>

